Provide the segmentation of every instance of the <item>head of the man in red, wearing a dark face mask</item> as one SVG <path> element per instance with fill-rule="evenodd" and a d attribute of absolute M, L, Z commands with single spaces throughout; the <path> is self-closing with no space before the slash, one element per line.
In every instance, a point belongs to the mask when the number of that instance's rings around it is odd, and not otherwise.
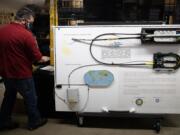
<path fill-rule="evenodd" d="M 30 29 L 34 22 L 34 18 L 34 12 L 27 7 L 23 7 L 17 11 L 15 21 L 18 21 L 19 23 L 25 25 L 28 29 Z"/>

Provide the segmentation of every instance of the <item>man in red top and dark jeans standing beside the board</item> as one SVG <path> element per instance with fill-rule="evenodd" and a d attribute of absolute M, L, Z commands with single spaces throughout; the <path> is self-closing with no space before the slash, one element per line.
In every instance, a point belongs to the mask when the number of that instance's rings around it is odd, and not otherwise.
<path fill-rule="evenodd" d="M 47 62 L 49 57 L 42 56 L 29 30 L 33 22 L 33 11 L 24 7 L 16 13 L 14 22 L 0 27 L 0 76 L 5 85 L 0 129 L 18 126 L 11 118 L 17 92 L 23 96 L 27 107 L 28 129 L 36 129 L 47 122 L 41 118 L 37 109 L 32 64 Z"/>

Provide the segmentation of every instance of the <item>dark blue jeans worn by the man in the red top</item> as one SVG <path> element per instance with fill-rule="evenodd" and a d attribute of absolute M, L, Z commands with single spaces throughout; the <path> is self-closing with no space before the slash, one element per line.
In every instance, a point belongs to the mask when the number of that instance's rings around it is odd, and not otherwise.
<path fill-rule="evenodd" d="M 5 93 L 0 111 L 0 123 L 11 119 L 12 110 L 15 104 L 17 92 L 19 92 L 25 101 L 28 113 L 28 124 L 33 126 L 41 119 L 37 108 L 37 95 L 33 78 L 27 79 L 8 79 L 4 78 Z"/>

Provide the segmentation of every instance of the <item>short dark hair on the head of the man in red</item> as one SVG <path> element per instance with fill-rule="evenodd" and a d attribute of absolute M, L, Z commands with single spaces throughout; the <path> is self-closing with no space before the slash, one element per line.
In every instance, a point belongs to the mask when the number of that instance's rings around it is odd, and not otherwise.
<path fill-rule="evenodd" d="M 35 17 L 35 13 L 31 9 L 23 7 L 16 12 L 15 20 L 26 20 L 31 16 Z"/>

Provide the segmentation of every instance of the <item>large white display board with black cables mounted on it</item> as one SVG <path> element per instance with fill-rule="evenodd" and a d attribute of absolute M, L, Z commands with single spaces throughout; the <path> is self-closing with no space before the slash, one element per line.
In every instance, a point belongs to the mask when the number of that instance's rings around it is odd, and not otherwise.
<path fill-rule="evenodd" d="M 101 65 L 91 56 L 90 43 L 98 35 L 126 33 L 108 38 L 127 37 L 128 34 L 141 33 L 142 28 L 151 27 L 180 28 L 165 25 L 54 27 L 56 111 L 180 113 L 179 69 L 176 72 L 157 72 L 151 66 Z M 180 54 L 180 45 L 143 45 L 140 39 L 120 39 L 96 41 L 92 47 L 93 55 L 105 63 L 149 62 L 157 52 Z M 88 88 L 84 85 L 84 75 L 92 70 L 110 71 L 114 76 L 112 84 L 104 88 Z M 69 103 L 68 96 L 74 103 Z"/>

